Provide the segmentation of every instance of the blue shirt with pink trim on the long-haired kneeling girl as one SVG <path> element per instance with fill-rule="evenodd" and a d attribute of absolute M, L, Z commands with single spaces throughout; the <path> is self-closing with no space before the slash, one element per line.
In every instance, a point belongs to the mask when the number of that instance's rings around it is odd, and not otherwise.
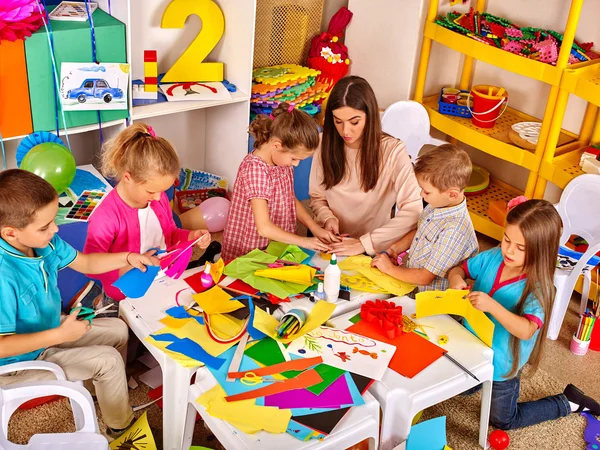
<path fill-rule="evenodd" d="M 504 258 L 499 247 L 481 252 L 463 264 L 467 276 L 475 280 L 473 291 L 485 292 L 510 312 L 517 314 L 517 304 L 525 289 L 527 275 L 505 280 L 500 283 L 502 269 L 504 269 Z M 494 337 L 492 350 L 494 350 L 494 381 L 506 381 L 506 375 L 510 372 L 513 363 L 513 354 L 510 348 L 511 334 L 494 316 L 485 313 L 494 322 Z M 522 313 L 523 317 L 535 322 L 538 330 L 528 341 L 521 340 L 519 355 L 519 370 L 529 361 L 531 352 L 535 345 L 539 329 L 544 323 L 544 310 L 537 297 L 530 295 Z M 473 329 L 465 320 L 465 327 L 473 334 Z"/>

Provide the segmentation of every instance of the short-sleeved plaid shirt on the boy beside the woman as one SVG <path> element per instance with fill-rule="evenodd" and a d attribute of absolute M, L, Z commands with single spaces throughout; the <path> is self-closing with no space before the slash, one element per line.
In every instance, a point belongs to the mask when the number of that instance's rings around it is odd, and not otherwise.
<path fill-rule="evenodd" d="M 448 208 L 427 205 L 419 217 L 406 267 L 427 269 L 437 275 L 431 284 L 419 286 L 419 292 L 443 291 L 448 289 L 445 278 L 448 271 L 475 255 L 478 249 L 466 199 L 460 205 Z"/>

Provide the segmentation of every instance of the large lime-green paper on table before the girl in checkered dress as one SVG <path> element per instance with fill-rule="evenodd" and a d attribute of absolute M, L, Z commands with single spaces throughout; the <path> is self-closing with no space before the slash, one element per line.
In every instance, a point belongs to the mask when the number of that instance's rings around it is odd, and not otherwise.
<path fill-rule="evenodd" d="M 300 250 L 302 252 L 302 250 Z M 304 255 L 306 253 L 302 252 Z M 297 254 L 297 252 L 296 252 Z M 287 256 L 287 255 L 286 255 Z M 238 278 L 261 292 L 269 292 L 276 297 L 286 298 L 306 290 L 303 284 L 289 283 L 286 281 L 272 280 L 265 277 L 257 277 L 254 272 L 265 269 L 266 265 L 261 263 L 273 263 L 277 256 L 269 255 L 261 250 L 252 250 L 250 253 L 231 261 L 223 273 L 227 276 Z"/>

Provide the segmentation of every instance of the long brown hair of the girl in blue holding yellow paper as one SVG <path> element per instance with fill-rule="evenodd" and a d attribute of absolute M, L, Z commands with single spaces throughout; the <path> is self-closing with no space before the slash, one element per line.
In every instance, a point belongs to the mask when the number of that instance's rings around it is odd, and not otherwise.
<path fill-rule="evenodd" d="M 529 358 L 531 373 L 534 373 L 540 363 L 546 342 L 547 323 L 552 315 L 554 303 L 554 269 L 558 257 L 562 220 L 550 202 L 546 200 L 528 200 L 511 209 L 506 217 L 506 223 L 516 225 L 525 238 L 525 288 L 519 299 L 515 314 L 523 315 L 527 297 L 535 296 L 544 310 L 544 324 L 538 330 L 536 342 Z M 511 335 L 510 347 L 513 355 L 513 365 L 506 378 L 517 374 L 519 367 L 521 340 Z"/>

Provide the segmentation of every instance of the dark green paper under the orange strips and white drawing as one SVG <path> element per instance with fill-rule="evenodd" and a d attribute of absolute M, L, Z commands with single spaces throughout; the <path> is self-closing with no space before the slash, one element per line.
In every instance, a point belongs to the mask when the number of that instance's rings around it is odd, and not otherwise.
<path fill-rule="evenodd" d="M 277 342 L 275 342 L 274 339 L 269 337 L 261 339 L 252 347 L 247 348 L 246 351 L 244 351 L 244 354 L 259 364 L 263 364 L 265 366 L 272 366 L 285 362 L 285 358 L 281 353 L 279 345 L 277 345 Z M 319 364 L 318 366 L 315 366 L 315 370 L 319 375 L 321 375 L 323 381 L 319 384 L 315 384 L 314 386 L 306 388 L 315 395 L 320 395 L 331 385 L 331 383 L 346 373 L 346 371 L 342 369 L 338 369 L 337 367 L 329 366 L 327 364 Z M 282 372 L 281 375 L 286 378 L 293 378 L 300 373 L 301 371 L 298 370 L 289 370 L 287 372 Z"/>

